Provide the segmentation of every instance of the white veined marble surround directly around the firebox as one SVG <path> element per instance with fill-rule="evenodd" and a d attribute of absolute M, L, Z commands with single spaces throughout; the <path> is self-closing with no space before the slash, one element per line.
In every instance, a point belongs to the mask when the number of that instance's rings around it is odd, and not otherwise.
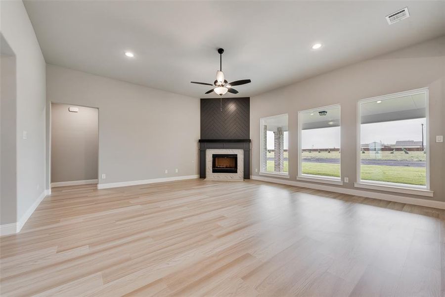
<path fill-rule="evenodd" d="M 236 154 L 238 157 L 237 173 L 213 173 L 213 154 Z M 242 149 L 219 148 L 206 149 L 206 180 L 244 180 L 243 175 L 244 151 Z"/>

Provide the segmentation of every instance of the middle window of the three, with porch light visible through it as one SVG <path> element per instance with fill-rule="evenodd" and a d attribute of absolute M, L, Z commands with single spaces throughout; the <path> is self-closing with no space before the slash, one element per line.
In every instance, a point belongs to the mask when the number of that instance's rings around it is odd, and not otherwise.
<path fill-rule="evenodd" d="M 340 105 L 300 111 L 299 179 L 316 178 L 341 184 Z"/>

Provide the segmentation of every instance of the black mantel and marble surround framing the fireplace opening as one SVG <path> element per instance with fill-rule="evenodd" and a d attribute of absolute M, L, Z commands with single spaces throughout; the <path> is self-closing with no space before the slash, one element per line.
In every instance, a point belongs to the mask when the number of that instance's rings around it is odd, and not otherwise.
<path fill-rule="evenodd" d="M 237 173 L 213 173 L 212 154 L 237 154 Z M 250 139 L 199 140 L 199 178 L 211 180 L 250 179 Z"/>

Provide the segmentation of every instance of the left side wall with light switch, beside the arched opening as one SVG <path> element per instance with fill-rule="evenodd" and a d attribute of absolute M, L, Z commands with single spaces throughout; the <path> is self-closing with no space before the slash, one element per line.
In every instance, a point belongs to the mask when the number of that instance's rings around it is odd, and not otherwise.
<path fill-rule="evenodd" d="M 45 60 L 23 2 L 0 8 L 1 34 L 16 56 L 16 218 L 23 221 L 45 193 Z"/>

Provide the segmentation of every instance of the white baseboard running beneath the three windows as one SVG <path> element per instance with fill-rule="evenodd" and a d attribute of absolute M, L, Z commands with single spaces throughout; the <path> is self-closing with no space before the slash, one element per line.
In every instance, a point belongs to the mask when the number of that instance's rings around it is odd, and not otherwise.
<path fill-rule="evenodd" d="M 269 182 L 269 183 L 283 184 L 283 185 L 289 185 L 289 186 L 296 186 L 296 187 L 310 188 L 310 189 L 323 190 L 323 191 L 329 191 L 329 192 L 335 192 L 335 193 L 349 194 L 349 195 L 354 195 L 354 196 L 361 196 L 361 197 L 366 197 L 366 198 L 374 198 L 374 199 L 380 199 L 380 200 L 386 200 L 386 201 L 393 201 L 393 202 L 400 202 L 400 203 L 406 203 L 406 204 L 413 204 L 413 205 L 419 205 L 419 206 L 427 206 L 427 207 L 445 209 L 445 202 L 443 202 L 443 201 L 427 200 L 427 199 L 412 198 L 412 197 L 403 197 L 403 196 L 398 196 L 398 195 L 382 194 L 382 193 L 376 193 L 376 192 L 347 189 L 347 188 L 318 185 L 318 184 L 310 184 L 310 183 L 303 183 L 303 182 L 295 182 L 295 181 L 289 181 L 289 180 L 278 180 L 278 179 L 274 179 L 274 178 L 267 178 L 267 177 L 254 176 L 254 175 L 251 176 L 251 179 L 263 181 L 263 182 Z"/>

